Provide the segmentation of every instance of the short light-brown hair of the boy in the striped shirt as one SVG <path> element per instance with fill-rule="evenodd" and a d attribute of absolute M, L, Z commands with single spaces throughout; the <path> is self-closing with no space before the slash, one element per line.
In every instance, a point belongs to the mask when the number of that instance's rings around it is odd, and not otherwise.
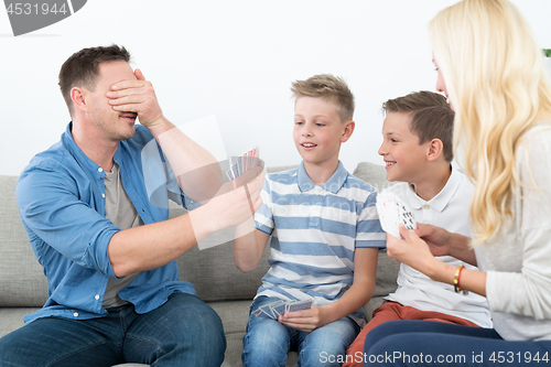
<path fill-rule="evenodd" d="M 337 107 L 341 122 L 353 119 L 354 95 L 342 77 L 331 74 L 314 75 L 306 80 L 293 82 L 291 91 L 294 98 L 316 97 L 334 102 Z"/>

